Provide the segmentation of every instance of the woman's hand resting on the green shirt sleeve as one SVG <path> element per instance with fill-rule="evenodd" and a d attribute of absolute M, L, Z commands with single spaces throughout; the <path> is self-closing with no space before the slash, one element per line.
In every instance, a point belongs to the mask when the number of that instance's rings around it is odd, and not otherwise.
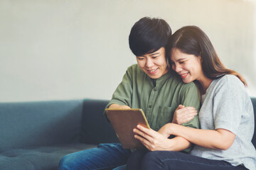
<path fill-rule="evenodd" d="M 174 112 L 172 123 L 181 125 L 192 120 L 197 115 L 196 108 L 179 105 Z"/>

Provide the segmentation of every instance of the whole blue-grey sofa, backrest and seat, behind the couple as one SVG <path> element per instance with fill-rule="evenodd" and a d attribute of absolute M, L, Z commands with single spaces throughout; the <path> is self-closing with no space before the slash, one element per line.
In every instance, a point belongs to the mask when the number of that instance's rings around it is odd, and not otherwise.
<path fill-rule="evenodd" d="M 0 103 L 0 169 L 56 170 L 65 154 L 118 142 L 103 115 L 107 103 L 92 99 Z M 256 98 L 252 103 L 256 115 Z M 256 135 L 252 142 L 256 146 Z"/>

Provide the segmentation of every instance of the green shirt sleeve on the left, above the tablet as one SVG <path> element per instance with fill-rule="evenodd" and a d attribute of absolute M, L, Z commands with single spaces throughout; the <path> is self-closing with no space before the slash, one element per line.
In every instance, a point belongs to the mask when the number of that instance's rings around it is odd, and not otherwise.
<path fill-rule="evenodd" d="M 124 74 L 122 82 L 117 86 L 117 89 L 112 95 L 110 103 L 107 104 L 106 108 L 109 108 L 112 104 L 119 104 L 120 106 L 131 107 L 132 100 L 132 67 L 127 69 Z"/>

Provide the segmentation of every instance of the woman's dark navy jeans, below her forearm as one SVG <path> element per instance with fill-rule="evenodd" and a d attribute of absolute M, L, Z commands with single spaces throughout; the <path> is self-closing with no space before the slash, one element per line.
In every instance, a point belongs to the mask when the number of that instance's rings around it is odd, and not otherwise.
<path fill-rule="evenodd" d="M 143 149 L 138 149 L 129 157 L 127 161 L 127 169 L 245 170 L 246 168 L 245 166 L 233 166 L 228 162 L 205 159 L 181 152 L 149 152 Z"/>

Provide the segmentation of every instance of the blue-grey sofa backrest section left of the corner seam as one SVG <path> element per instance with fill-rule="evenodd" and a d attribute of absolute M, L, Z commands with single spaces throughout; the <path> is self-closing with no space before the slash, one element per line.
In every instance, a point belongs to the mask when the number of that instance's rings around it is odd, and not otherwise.
<path fill-rule="evenodd" d="M 0 151 L 79 141 L 82 102 L 0 103 Z"/>

